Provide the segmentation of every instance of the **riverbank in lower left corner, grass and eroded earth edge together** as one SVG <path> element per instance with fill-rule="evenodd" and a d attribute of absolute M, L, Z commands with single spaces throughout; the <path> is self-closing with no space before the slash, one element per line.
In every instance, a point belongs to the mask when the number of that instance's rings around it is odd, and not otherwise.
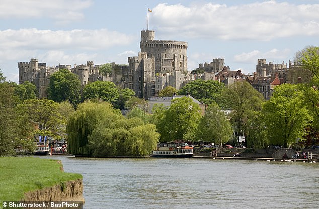
<path fill-rule="evenodd" d="M 83 201 L 82 175 L 65 173 L 59 160 L 0 157 L 0 170 L 0 201 Z"/>

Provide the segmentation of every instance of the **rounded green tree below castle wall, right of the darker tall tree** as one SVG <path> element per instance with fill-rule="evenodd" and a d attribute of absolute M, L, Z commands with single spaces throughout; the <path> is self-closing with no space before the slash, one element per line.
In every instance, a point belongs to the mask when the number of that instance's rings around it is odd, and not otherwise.
<path fill-rule="evenodd" d="M 109 81 L 95 81 L 83 89 L 83 99 L 98 98 L 101 101 L 114 103 L 119 97 L 119 92 L 114 83 Z"/>

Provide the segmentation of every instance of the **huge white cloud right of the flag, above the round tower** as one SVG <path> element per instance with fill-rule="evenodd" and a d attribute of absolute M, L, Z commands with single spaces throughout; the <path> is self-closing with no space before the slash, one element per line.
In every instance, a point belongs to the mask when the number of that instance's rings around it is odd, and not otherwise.
<path fill-rule="evenodd" d="M 263 40 L 319 35 L 319 4 L 264 1 L 226 4 L 158 4 L 151 22 L 156 31 L 188 38 Z M 176 31 L 176 29 L 179 29 Z"/>

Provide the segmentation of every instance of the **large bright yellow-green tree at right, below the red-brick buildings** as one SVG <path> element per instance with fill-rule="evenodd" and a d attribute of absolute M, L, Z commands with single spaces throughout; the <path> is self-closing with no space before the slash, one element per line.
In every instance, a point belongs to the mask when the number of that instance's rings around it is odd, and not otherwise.
<path fill-rule="evenodd" d="M 311 121 L 296 85 L 276 86 L 272 97 L 263 104 L 265 123 L 272 144 L 288 147 L 302 139 Z"/>

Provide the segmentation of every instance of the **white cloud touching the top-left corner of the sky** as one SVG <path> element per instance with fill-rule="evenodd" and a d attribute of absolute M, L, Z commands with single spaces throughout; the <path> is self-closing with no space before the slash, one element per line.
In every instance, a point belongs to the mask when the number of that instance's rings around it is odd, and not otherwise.
<path fill-rule="evenodd" d="M 81 20 L 82 11 L 93 4 L 92 0 L 2 0 L 0 18 L 52 18 L 58 22 Z"/>

